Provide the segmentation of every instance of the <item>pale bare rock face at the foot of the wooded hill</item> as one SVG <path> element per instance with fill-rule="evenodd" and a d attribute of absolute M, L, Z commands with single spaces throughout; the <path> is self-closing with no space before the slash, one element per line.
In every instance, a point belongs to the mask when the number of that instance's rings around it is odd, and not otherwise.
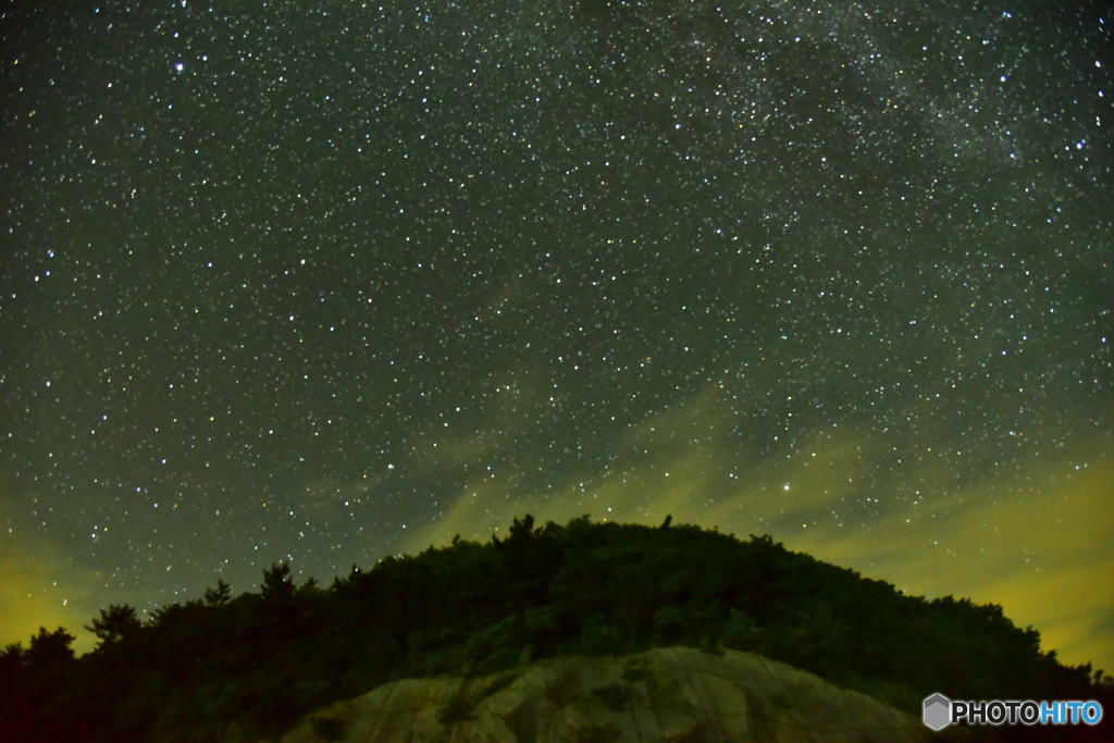
<path fill-rule="evenodd" d="M 930 735 L 919 720 L 783 663 L 666 647 L 551 658 L 480 678 L 392 682 L 311 714 L 282 742 L 912 743 Z"/>

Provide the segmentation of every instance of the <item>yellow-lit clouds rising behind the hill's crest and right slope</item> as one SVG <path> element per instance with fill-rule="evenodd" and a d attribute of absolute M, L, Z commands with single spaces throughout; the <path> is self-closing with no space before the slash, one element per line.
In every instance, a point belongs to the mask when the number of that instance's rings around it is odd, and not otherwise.
<path fill-rule="evenodd" d="M 444 545 L 456 534 L 486 541 L 494 527 L 527 512 L 539 524 L 589 514 L 649 526 L 672 514 L 674 522 L 741 538 L 768 531 L 790 549 L 910 595 L 999 604 L 1019 627 L 1038 629 L 1043 649 L 1056 649 L 1061 662 L 1114 668 L 1114 466 L 1105 452 L 1065 448 L 1013 477 L 993 473 L 946 498 L 932 496 L 945 490 L 950 473 L 926 460 L 908 467 L 909 478 L 925 483 L 918 504 L 885 502 L 877 518 L 844 520 L 840 498 L 878 456 L 878 442 L 850 429 L 820 433 L 792 459 L 769 458 L 725 480 L 733 452 L 717 444 L 730 426 L 719 394 L 710 384 L 687 405 L 632 427 L 615 444 L 615 469 L 623 475 L 594 481 L 589 490 L 568 482 L 547 498 L 508 500 L 495 497 L 509 491 L 508 483 L 479 478 L 442 518 L 411 535 L 405 549 Z M 690 440 L 697 430 L 700 444 Z M 1088 466 L 1076 471 L 1073 461 Z M 1046 485 L 1032 485 L 1037 482 Z M 1012 495 L 1018 491 L 1024 497 Z"/>

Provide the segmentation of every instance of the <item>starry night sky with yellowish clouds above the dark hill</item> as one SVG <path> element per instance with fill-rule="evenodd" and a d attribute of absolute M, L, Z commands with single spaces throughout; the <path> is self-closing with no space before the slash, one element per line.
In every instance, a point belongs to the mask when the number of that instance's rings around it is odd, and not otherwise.
<path fill-rule="evenodd" d="M 0 643 L 672 514 L 1114 668 L 1103 3 L 212 4 L 0 10 Z"/>

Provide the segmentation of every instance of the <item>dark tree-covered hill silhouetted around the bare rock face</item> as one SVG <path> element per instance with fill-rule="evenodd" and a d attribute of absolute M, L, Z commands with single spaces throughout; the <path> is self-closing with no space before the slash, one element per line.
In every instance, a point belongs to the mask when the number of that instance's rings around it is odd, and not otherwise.
<path fill-rule="evenodd" d="M 905 596 L 768 536 L 740 541 L 671 519 L 656 529 L 587 517 L 539 528 L 526 516 L 504 540 L 455 538 L 368 571 L 353 566 L 328 589 L 295 587 L 277 564 L 257 594 L 233 598 L 218 581 L 204 602 L 165 606 L 146 623 L 109 606 L 89 629 L 100 644 L 80 658 L 61 627 L 0 653 L 0 740 L 258 740 L 402 676 L 663 644 L 761 653 L 918 715 L 932 691 L 1112 708 L 1108 676 L 1062 665 L 999 606 Z M 462 693 L 450 716 L 467 717 L 471 702 Z M 326 718 L 314 725 L 342 732 Z"/>

